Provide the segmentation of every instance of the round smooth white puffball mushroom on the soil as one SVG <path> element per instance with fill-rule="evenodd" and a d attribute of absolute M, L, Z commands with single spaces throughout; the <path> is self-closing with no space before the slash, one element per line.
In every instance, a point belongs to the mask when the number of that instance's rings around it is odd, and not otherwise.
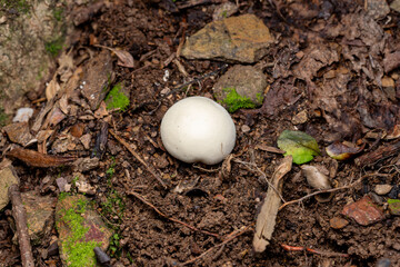
<path fill-rule="evenodd" d="M 161 140 L 177 159 L 214 165 L 232 151 L 236 128 L 221 105 L 204 97 L 189 97 L 166 112 L 161 121 Z"/>

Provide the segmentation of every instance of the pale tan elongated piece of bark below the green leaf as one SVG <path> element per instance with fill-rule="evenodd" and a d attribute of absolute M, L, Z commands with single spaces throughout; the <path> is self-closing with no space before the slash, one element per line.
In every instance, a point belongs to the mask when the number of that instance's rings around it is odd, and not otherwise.
<path fill-rule="evenodd" d="M 283 187 L 283 177 L 291 170 L 292 157 L 287 156 L 278 166 L 272 175 L 271 184 L 268 187 L 267 197 L 261 206 L 261 211 L 257 217 L 256 233 L 253 238 L 253 248 L 256 253 L 262 253 L 270 244 L 272 233 L 276 226 L 278 209 L 281 205 L 281 192 Z M 271 186 L 272 185 L 272 186 Z"/>

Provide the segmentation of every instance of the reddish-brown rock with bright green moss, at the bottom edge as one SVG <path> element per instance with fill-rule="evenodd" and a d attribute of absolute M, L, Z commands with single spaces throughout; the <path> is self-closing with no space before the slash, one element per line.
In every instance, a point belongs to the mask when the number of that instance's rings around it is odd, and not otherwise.
<path fill-rule="evenodd" d="M 112 235 L 92 209 L 89 199 L 81 195 L 59 199 L 56 226 L 64 266 L 96 266 L 94 247 L 106 251 Z"/>

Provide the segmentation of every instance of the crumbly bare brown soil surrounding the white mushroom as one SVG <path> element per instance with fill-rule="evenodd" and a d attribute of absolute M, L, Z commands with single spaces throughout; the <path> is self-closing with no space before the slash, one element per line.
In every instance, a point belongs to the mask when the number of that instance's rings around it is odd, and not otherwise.
<path fill-rule="evenodd" d="M 360 226 L 349 219 L 350 224 L 338 230 L 332 229 L 329 222 L 332 217 L 340 216 L 346 204 L 368 194 L 374 185 L 399 184 L 397 158 L 393 156 L 364 168 L 356 166 L 352 160 L 339 162 L 336 166 L 334 160 L 324 152 L 323 156 L 317 157 L 314 162 L 337 170 L 334 180 L 338 186 L 348 185 L 363 174 L 373 171 L 393 174 L 393 176 L 391 178 L 368 178 L 359 186 L 336 192 L 329 202 L 322 204 L 316 201 L 314 198 L 309 198 L 301 204 L 284 207 L 278 214 L 277 227 L 267 251 L 261 255 L 252 251 L 258 206 L 268 188 L 254 166 L 270 178 L 282 158 L 279 154 L 260 149 L 260 145 L 276 147 L 280 132 L 284 129 L 294 129 L 292 117 L 301 110 L 307 110 L 309 119 L 297 128 L 313 136 L 321 148 L 330 145 L 332 138 L 338 137 L 341 138 L 339 140 L 361 140 L 360 138 L 366 132 L 364 126 L 349 126 L 352 123 L 349 120 L 344 121 L 344 125 L 348 123 L 348 128 L 346 128 L 348 131 L 339 131 L 338 136 L 338 131 L 332 129 L 332 126 L 321 116 L 321 111 L 314 109 L 312 98 L 316 96 L 310 93 L 310 83 L 307 79 L 298 79 L 292 75 L 283 73 L 284 68 L 289 71 L 290 68 L 296 67 L 297 62 L 293 58 L 298 51 L 307 51 L 304 48 L 313 44 L 313 38 L 317 38 L 313 34 L 327 42 L 339 43 L 340 37 L 330 38 L 319 34 L 312 29 L 317 28 L 317 23 L 326 26 L 333 23 L 332 20 L 347 13 L 358 12 L 358 6 L 362 7 L 363 1 L 360 1 L 361 3 L 330 1 L 332 10 L 329 11 L 331 14 L 329 21 L 318 18 L 318 14 L 323 11 L 322 3 L 329 1 L 313 1 L 314 6 L 304 4 L 301 9 L 296 7 L 297 9 L 292 10 L 277 1 L 240 1 L 237 14 L 252 12 L 262 18 L 274 36 L 281 36 L 271 48 L 270 53 L 260 62 L 267 66 L 264 73 L 269 77 L 271 89 L 267 95 L 266 102 L 270 102 L 257 111 L 240 110 L 232 115 L 238 130 L 237 145 L 233 150 L 234 158 L 253 165 L 248 168 L 246 165 L 232 160 L 231 170 L 227 176 L 222 175 L 221 165 L 211 167 L 188 165 L 172 158 L 163 149 L 159 134 L 163 113 L 177 100 L 186 96 L 212 96 L 216 76 L 200 79 L 200 82 L 192 83 L 184 90 L 176 91 L 158 101 L 160 92 L 166 88 L 178 88 L 189 78 L 204 77 L 224 65 L 224 62 L 217 61 L 181 59 L 180 62 L 188 71 L 189 77 L 184 77 L 177 65 L 172 62 L 160 68 L 177 50 L 183 34 L 190 36 L 212 20 L 216 4 L 200 4 L 182 9 L 180 12 L 171 12 L 168 8 L 163 8 L 166 7 L 163 4 L 170 1 L 157 2 L 159 1 L 119 0 L 107 4 L 91 20 L 80 26 L 80 33 L 73 43 L 78 48 L 74 49 L 76 57 L 79 56 L 79 49 L 84 47 L 91 47 L 94 52 L 99 52 L 101 49 L 93 48 L 93 43 L 121 48 L 134 57 L 137 66 L 133 69 L 116 65 L 116 81 L 124 82 L 126 88 L 129 89 L 131 105 L 129 110 L 113 113 L 110 128 L 131 144 L 149 166 L 154 166 L 157 172 L 162 174 L 169 188 L 168 190 L 163 189 L 120 142 L 112 136 L 108 136 L 108 149 L 102 158 L 100 169 L 91 171 L 89 180 L 92 185 L 98 186 L 98 194 L 92 197 L 98 204 L 98 210 L 103 212 L 109 225 L 114 228 L 120 238 L 119 243 L 113 245 L 116 251 L 108 251 L 113 257 L 112 266 L 117 266 L 117 264 L 123 266 L 179 266 L 194 257 L 199 258 L 192 266 L 376 266 L 380 258 L 389 258 L 391 266 L 400 266 L 399 217 L 388 214 L 386 219 L 370 226 Z M 276 3 L 271 6 L 273 2 Z M 392 27 L 388 31 L 391 31 L 391 36 L 397 42 L 399 16 L 398 13 L 390 16 Z M 378 23 L 383 27 L 386 21 Z M 282 59 L 284 57 L 288 58 Z M 273 65 L 268 65 L 269 62 L 278 62 L 280 69 L 277 70 Z M 317 85 L 317 87 L 322 85 L 324 82 L 323 75 L 339 66 L 351 68 L 346 59 L 341 58 L 333 66 L 326 65 L 323 68 L 317 69 L 318 71 L 311 77 L 312 85 Z M 166 69 L 171 73 L 167 82 L 162 79 Z M 359 86 L 359 78 L 367 79 L 359 70 L 350 69 L 350 71 L 352 71 L 351 81 L 347 83 L 350 89 Z M 368 86 L 370 91 L 378 87 Z M 356 107 L 352 107 L 350 102 L 351 98 L 358 95 L 359 91 L 353 90 L 351 93 L 342 96 L 350 99 L 347 101 L 348 106 L 341 106 L 342 111 L 357 112 Z M 369 101 L 369 99 L 367 100 Z M 156 103 L 143 105 L 149 101 Z M 397 101 L 393 100 L 396 105 Z M 341 121 L 343 122 L 343 120 Z M 60 131 L 73 122 L 63 121 Z M 249 126 L 250 130 L 243 131 L 243 125 Z M 99 130 L 100 123 L 96 121 L 86 126 L 88 132 L 97 134 Z M 336 136 L 331 138 L 333 134 Z M 390 144 L 378 140 L 378 144 L 373 145 L 373 140 L 362 140 L 367 142 L 367 149 L 371 150 L 376 149 L 377 145 Z M 90 156 L 90 152 L 81 151 L 80 156 Z M 114 169 L 112 176 L 108 171 L 110 168 Z M 18 172 L 22 179 L 21 190 L 39 188 L 40 179 L 46 176 L 47 171 L 48 174 L 58 174 L 59 171 L 61 175 L 70 174 L 68 169 L 43 170 L 19 164 Z M 294 165 L 284 180 L 282 196 L 287 201 L 298 199 L 312 191 L 299 172 L 300 168 Z M 193 185 L 187 186 L 181 194 L 174 192 L 173 188 L 183 182 Z M 218 234 L 221 238 L 189 229 L 160 216 L 149 205 L 132 196 L 131 191 L 142 196 L 167 217 L 184 221 L 201 230 Z M 43 191 L 43 194 L 58 196 L 59 192 L 56 189 L 54 191 Z M 112 208 L 107 209 L 104 204 L 117 195 L 122 199 L 123 205 L 113 202 Z M 391 197 L 397 198 L 397 194 Z M 387 196 L 384 196 L 383 202 L 386 199 Z M 0 218 L 0 237 L 3 240 L 0 241 L 0 248 L 9 251 L 9 255 L 13 255 L 8 257 L 7 263 L 17 265 L 19 263 L 18 248 L 11 244 L 12 230 L 7 221 L 8 216 L 10 212 L 6 211 Z M 243 229 L 243 227 L 249 228 L 226 245 L 218 246 L 223 241 L 224 236 Z M 43 240 L 42 244 L 40 247 L 34 247 L 38 266 L 59 266 L 59 256 L 41 257 L 42 250 L 48 248 L 49 243 Z M 323 253 L 288 251 L 283 249 L 282 245 L 313 248 Z M 207 255 L 202 255 L 214 246 L 218 247 Z M 338 257 L 338 254 L 348 254 L 348 257 Z"/>

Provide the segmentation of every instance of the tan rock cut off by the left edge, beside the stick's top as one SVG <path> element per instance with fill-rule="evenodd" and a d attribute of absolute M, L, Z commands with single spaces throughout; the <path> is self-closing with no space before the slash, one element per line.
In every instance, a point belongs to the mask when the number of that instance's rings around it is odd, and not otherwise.
<path fill-rule="evenodd" d="M 0 210 L 3 209 L 10 201 L 8 197 L 8 189 L 10 186 L 19 184 L 19 178 L 11 161 L 4 159 L 0 164 Z"/>

